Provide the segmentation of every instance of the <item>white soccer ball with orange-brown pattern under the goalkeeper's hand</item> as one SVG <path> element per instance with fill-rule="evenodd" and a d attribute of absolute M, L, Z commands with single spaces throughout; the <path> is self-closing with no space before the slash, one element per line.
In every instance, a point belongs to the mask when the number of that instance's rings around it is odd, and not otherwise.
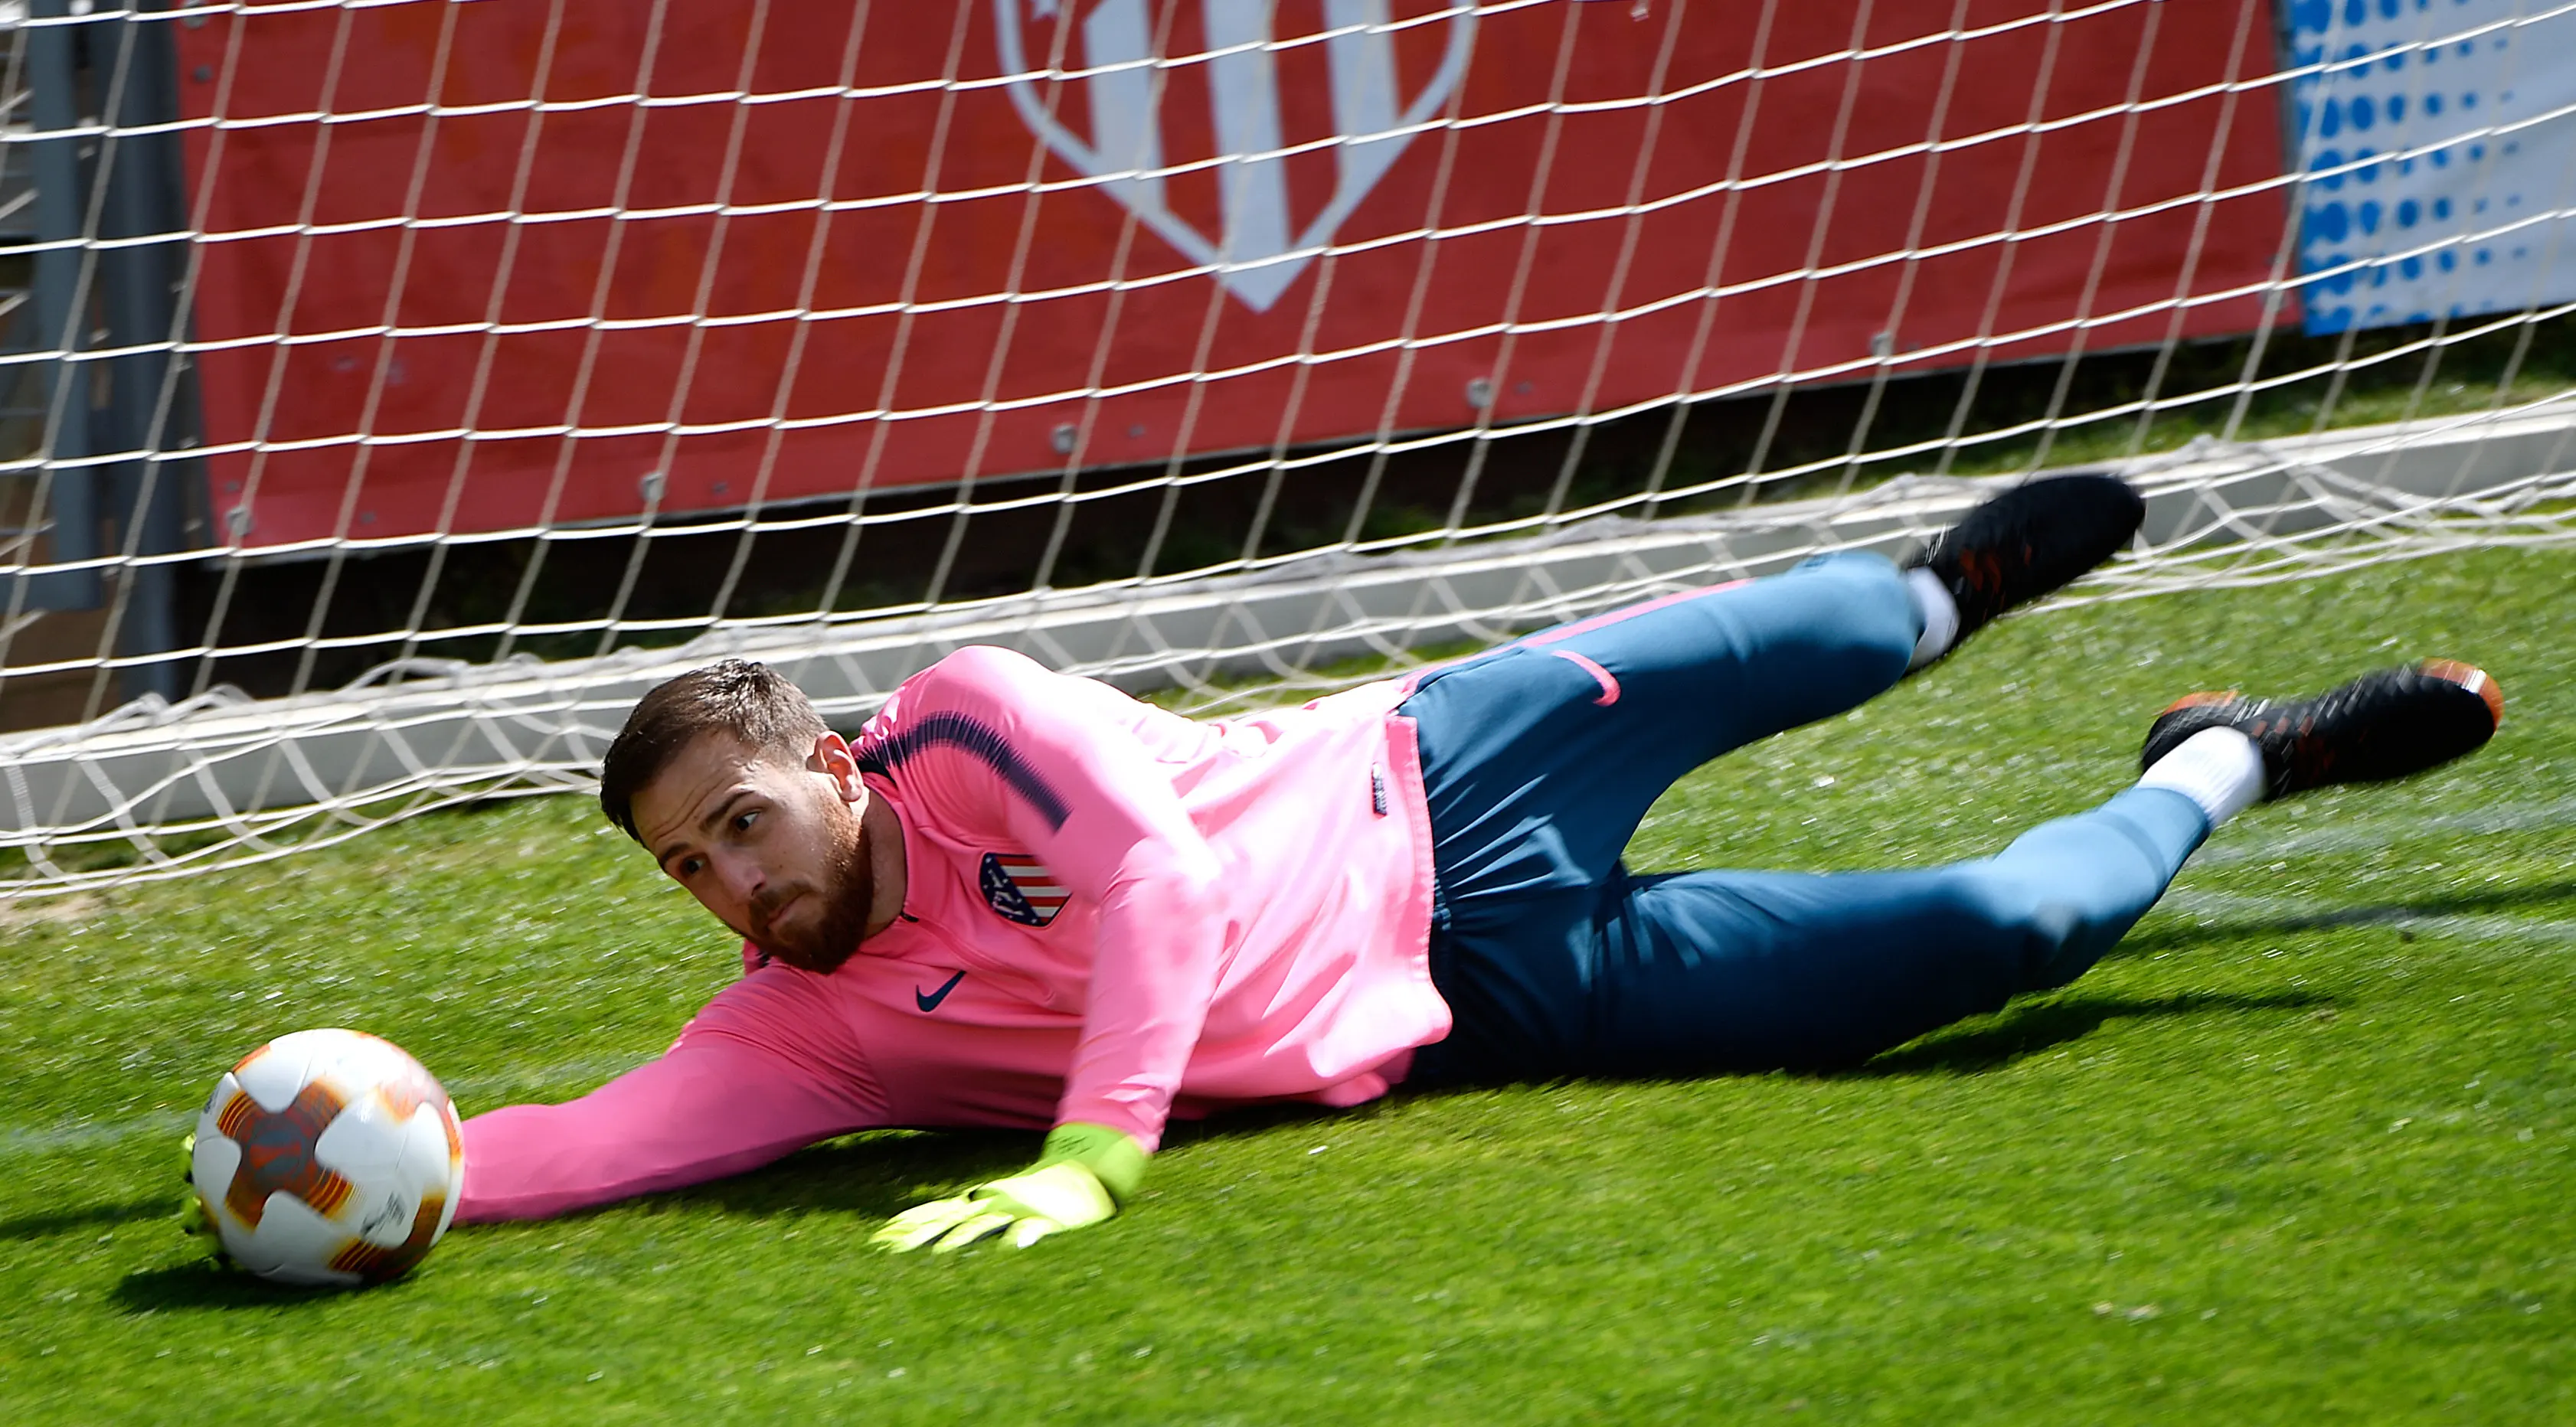
<path fill-rule="evenodd" d="M 188 1180 L 234 1265 L 299 1285 L 399 1278 L 456 1218 L 456 1102 L 392 1041 L 278 1035 L 224 1072 Z"/>

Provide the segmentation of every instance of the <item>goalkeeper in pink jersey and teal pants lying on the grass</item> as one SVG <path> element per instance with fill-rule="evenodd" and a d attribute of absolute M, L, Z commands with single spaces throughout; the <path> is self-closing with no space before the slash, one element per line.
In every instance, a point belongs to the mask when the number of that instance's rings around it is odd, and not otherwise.
<path fill-rule="evenodd" d="M 600 806 L 744 938 L 672 1048 L 464 1126 L 461 1221 L 739 1175 L 871 1126 L 1048 1128 L 891 1249 L 1033 1244 L 1136 1195 L 1172 1115 L 1396 1084 L 1847 1066 L 2081 976 L 2259 799 L 2476 750 L 2421 662 L 2295 703 L 2190 695 L 2146 775 L 1984 860 L 1620 863 L 1700 762 L 1842 714 L 2128 543 L 2110 477 L 2004 492 L 1911 567 L 1834 554 L 1303 708 L 1195 724 L 1002 649 L 842 742 L 762 665 L 654 688 Z"/>

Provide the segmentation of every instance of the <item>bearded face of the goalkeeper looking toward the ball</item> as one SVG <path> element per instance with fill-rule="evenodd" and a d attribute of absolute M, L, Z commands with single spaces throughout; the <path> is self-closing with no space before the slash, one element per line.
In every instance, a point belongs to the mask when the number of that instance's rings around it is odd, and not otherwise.
<path fill-rule="evenodd" d="M 876 899 L 848 747 L 824 737 L 804 762 L 732 734 L 698 734 L 634 796 L 636 832 L 662 871 L 719 922 L 806 971 L 858 950 Z"/>

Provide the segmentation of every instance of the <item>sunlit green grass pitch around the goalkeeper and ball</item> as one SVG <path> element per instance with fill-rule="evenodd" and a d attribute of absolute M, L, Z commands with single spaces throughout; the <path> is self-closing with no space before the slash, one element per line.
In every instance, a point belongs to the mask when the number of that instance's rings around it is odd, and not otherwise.
<path fill-rule="evenodd" d="M 2076 987 L 1834 1077 L 1538 1084 L 1182 1131 L 1123 1218 L 881 1257 L 1036 1136 L 855 1136 L 299 1296 L 183 1239 L 268 1035 L 471 1113 L 670 1041 L 724 935 L 580 799 L 13 907 L 8 1422 L 2576 1422 L 2576 554 L 1999 626 L 1674 788 L 1641 868 L 1991 853 L 2177 693 L 2452 654 L 2506 724 L 2254 809 Z"/>

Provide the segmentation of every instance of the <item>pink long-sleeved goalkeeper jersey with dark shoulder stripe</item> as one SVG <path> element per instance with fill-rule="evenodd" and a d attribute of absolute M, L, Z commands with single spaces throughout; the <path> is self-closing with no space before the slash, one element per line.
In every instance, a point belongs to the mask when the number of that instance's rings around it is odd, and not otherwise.
<path fill-rule="evenodd" d="M 657 1061 L 466 1120 L 459 1218 L 708 1180 L 871 1126 L 1115 1126 L 1358 1105 L 1448 1035 L 1406 683 L 1195 724 L 971 647 L 860 729 L 904 912 L 760 966 Z"/>

